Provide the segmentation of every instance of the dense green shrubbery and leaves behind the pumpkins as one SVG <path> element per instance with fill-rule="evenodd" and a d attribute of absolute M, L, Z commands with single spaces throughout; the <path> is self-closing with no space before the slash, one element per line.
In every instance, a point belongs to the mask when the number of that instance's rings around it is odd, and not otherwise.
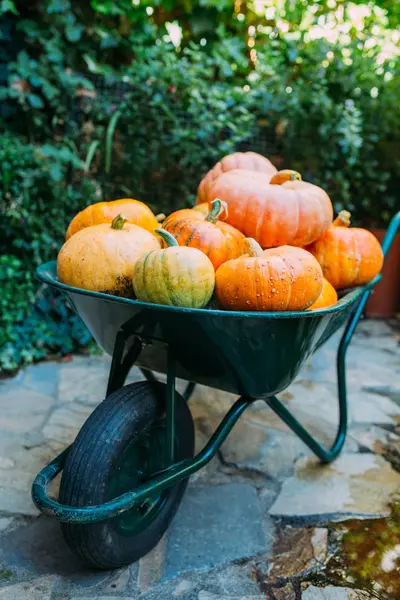
<path fill-rule="evenodd" d="M 0 367 L 87 344 L 34 269 L 93 201 L 167 213 L 253 148 L 384 226 L 399 207 L 399 6 L 1 0 Z"/>

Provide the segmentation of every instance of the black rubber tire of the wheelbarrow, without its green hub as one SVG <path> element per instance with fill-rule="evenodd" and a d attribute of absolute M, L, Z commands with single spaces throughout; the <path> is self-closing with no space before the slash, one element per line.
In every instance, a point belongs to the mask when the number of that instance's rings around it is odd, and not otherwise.
<path fill-rule="evenodd" d="M 165 385 L 142 381 L 110 394 L 91 414 L 67 458 L 60 485 L 60 502 L 69 506 L 102 504 L 110 500 L 108 482 L 128 444 L 162 419 Z M 194 454 L 194 426 L 190 410 L 176 394 L 176 460 Z M 86 565 L 113 569 L 137 561 L 159 542 L 185 493 L 188 480 L 166 492 L 163 505 L 145 529 L 122 535 L 112 519 L 85 525 L 62 523 L 62 533 Z"/>

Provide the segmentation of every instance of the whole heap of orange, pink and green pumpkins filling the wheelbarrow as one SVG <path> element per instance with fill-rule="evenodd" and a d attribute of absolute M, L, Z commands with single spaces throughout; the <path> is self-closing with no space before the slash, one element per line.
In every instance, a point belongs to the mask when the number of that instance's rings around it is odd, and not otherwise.
<path fill-rule="evenodd" d="M 162 223 L 160 223 L 162 221 Z M 382 249 L 329 196 L 254 152 L 224 157 L 197 205 L 167 218 L 138 200 L 99 202 L 71 221 L 57 260 L 61 282 L 187 308 L 294 311 L 337 302 L 371 281 Z"/>

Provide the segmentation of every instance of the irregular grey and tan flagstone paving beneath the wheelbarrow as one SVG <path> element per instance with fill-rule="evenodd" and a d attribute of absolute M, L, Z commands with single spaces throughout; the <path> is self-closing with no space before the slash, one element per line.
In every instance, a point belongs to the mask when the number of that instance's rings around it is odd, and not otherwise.
<path fill-rule="evenodd" d="M 400 493 L 396 331 L 373 321 L 359 326 L 347 361 L 349 435 L 335 463 L 319 464 L 263 402 L 255 403 L 218 456 L 192 477 L 159 545 L 113 572 L 82 568 L 58 523 L 39 516 L 30 500 L 34 475 L 73 441 L 102 399 L 109 359 L 45 362 L 0 381 L 0 600 L 399 598 L 396 584 L 367 585 L 331 568 L 348 520 L 385 523 Z M 325 442 L 336 430 L 337 342 L 321 348 L 281 394 Z M 130 380 L 140 378 L 133 370 Z M 190 407 L 198 449 L 232 401 L 196 390 Z M 396 556 L 386 557 L 387 576 L 398 567 Z"/>

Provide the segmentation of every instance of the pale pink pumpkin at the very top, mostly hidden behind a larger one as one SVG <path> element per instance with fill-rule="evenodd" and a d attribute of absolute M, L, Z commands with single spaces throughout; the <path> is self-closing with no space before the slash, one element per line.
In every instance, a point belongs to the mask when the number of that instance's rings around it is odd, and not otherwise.
<path fill-rule="evenodd" d="M 276 173 L 274 165 L 261 154 L 256 152 L 235 152 L 224 156 L 214 167 L 203 177 L 197 190 L 197 203 L 208 202 L 210 191 L 222 173 L 227 173 L 233 169 L 247 169 L 249 171 L 261 171 L 268 177 Z"/>

